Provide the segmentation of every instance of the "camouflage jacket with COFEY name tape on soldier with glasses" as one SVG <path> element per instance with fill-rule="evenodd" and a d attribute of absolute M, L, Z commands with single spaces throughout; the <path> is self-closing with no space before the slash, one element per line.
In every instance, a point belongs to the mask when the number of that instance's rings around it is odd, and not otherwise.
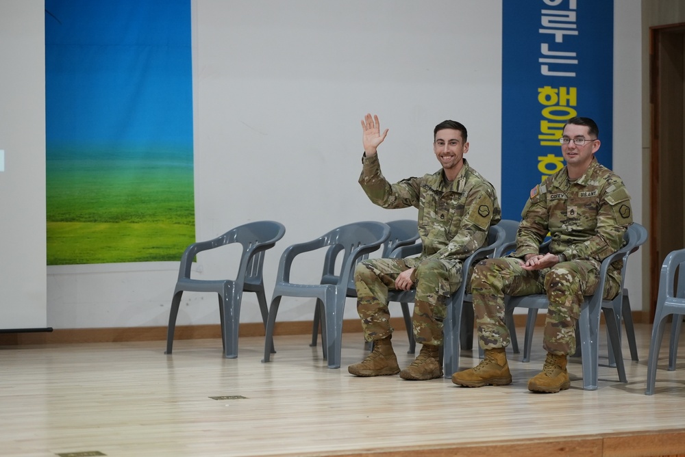
<path fill-rule="evenodd" d="M 593 157 L 575 182 L 566 167 L 547 177 L 530 192 L 516 234 L 512 257 L 536 254 L 547 233 L 549 252 L 566 260 L 602 259 L 623 246 L 623 233 L 632 224 L 632 209 L 621 178 Z M 614 262 L 615 276 L 620 262 Z"/>

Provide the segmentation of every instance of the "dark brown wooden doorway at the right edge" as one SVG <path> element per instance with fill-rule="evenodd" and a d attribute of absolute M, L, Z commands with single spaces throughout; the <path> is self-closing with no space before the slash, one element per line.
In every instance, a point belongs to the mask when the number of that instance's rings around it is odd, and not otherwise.
<path fill-rule="evenodd" d="M 664 258 L 685 248 L 685 24 L 651 27 L 649 103 L 649 322 Z"/>

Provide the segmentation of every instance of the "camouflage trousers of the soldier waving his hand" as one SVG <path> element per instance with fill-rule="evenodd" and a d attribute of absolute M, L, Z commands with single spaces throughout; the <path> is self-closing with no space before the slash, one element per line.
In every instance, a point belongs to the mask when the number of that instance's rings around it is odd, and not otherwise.
<path fill-rule="evenodd" d="M 420 261 L 420 259 L 369 259 L 354 271 L 357 312 L 362 319 L 366 341 L 382 339 L 393 333 L 388 311 L 388 289 L 395 289 L 401 272 L 416 267 L 414 316 L 412 326 L 417 343 L 441 345 L 443 319 L 449 296 L 462 281 L 460 261 Z"/>

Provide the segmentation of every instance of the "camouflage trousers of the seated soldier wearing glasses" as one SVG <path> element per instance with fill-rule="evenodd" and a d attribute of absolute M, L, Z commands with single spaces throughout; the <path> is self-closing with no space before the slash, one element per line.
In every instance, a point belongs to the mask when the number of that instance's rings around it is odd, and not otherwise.
<path fill-rule="evenodd" d="M 523 270 L 518 259 L 487 259 L 475 266 L 471 279 L 473 308 L 480 345 L 484 349 L 504 348 L 510 343 L 505 324 L 504 296 L 545 293 L 549 300 L 543 346 L 552 354 L 575 352 L 575 324 L 580 317 L 583 296 L 592 295 L 599 284 L 599 262 L 575 260 L 557 263 L 544 270 Z M 619 284 L 610 279 L 605 298 L 614 298 Z"/>

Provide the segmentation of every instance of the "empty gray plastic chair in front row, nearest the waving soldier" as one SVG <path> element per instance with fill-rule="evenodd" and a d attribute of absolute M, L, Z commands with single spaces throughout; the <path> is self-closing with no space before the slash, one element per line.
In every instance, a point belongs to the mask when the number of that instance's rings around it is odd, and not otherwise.
<path fill-rule="evenodd" d="M 326 342 L 325 354 L 328 359 L 328 367 L 340 368 L 343 311 L 353 267 L 362 256 L 380 248 L 388 236 L 390 236 L 388 224 L 374 221 L 354 222 L 340 226 L 312 241 L 288 246 L 281 255 L 278 265 L 273 299 L 269 308 L 269 319 L 266 322 L 266 341 L 264 342 L 262 362 L 269 362 L 271 356 L 269 348 L 271 347 L 273 328 L 281 298 L 283 296 L 310 297 L 316 298 L 317 306 L 323 307 L 323 312 L 321 312 L 322 339 Z M 343 255 L 340 276 L 336 277 L 334 284 L 290 283 L 290 268 L 297 255 L 329 246 L 340 246 L 340 254 Z"/>

